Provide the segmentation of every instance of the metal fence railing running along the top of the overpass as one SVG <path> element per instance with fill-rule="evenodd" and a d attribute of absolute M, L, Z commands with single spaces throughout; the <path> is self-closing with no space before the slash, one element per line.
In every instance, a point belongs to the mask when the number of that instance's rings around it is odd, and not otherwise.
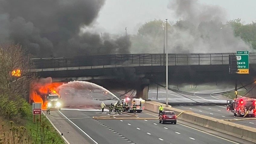
<path fill-rule="evenodd" d="M 229 55 L 236 53 L 169 54 L 168 66 L 227 65 Z M 164 54 L 124 54 L 71 58 L 30 59 L 33 71 L 113 68 L 129 66 L 164 66 Z M 250 63 L 256 63 L 256 53 L 250 53 Z"/>

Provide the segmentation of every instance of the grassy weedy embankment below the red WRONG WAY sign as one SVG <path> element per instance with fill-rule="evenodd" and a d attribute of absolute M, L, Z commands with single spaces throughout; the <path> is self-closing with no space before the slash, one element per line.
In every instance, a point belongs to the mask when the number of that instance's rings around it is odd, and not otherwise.
<path fill-rule="evenodd" d="M 0 119 L 0 144 L 65 144 L 59 133 L 44 115 L 36 116 L 35 123 L 33 114 L 18 121 Z"/>

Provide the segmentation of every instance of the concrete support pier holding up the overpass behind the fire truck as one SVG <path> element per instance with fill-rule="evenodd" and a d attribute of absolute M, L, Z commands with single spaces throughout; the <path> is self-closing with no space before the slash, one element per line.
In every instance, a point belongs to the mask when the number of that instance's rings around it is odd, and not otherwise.
<path fill-rule="evenodd" d="M 149 79 L 144 78 L 140 81 L 140 86 L 136 89 L 136 98 L 149 99 Z"/>

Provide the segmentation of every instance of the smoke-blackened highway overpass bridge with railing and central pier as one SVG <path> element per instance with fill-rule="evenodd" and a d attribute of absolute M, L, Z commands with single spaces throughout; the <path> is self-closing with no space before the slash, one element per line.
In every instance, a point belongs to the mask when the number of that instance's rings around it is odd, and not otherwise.
<path fill-rule="evenodd" d="M 205 79 L 232 79 L 228 74 L 229 55 L 236 53 L 168 54 L 168 75 L 172 80 L 198 81 Z M 253 78 L 256 74 L 256 53 L 250 53 L 250 74 L 239 78 Z M 139 95 L 147 95 L 150 80 L 165 79 L 164 54 L 124 54 L 70 58 L 35 58 L 32 72 L 52 77 L 55 82 L 123 80 L 133 85 Z M 129 84 L 130 81 L 131 83 Z M 145 96 L 143 96 L 145 97 Z"/>

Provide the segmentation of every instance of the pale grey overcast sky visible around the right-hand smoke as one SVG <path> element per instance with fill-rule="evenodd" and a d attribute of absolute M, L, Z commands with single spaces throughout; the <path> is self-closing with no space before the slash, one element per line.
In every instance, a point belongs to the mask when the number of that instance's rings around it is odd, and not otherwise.
<path fill-rule="evenodd" d="M 171 1 L 171 0 L 170 0 Z M 242 18 L 245 23 L 256 20 L 256 0 L 198 0 L 200 4 L 219 5 L 226 11 L 226 21 Z M 100 33 L 136 34 L 145 22 L 168 18 L 178 20 L 173 11 L 167 8 L 169 0 L 107 0 L 94 23 Z"/>

